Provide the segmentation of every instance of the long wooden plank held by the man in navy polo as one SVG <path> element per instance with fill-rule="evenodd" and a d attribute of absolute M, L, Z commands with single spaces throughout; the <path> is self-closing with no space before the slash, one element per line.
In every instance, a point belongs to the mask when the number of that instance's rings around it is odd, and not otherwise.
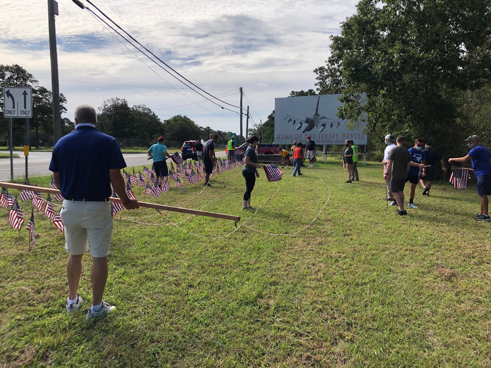
<path fill-rule="evenodd" d="M 16 183 L 0 183 L 0 187 L 2 187 L 2 186 L 6 187 L 6 188 L 12 188 L 12 189 L 18 189 L 18 190 L 32 190 L 34 192 L 41 192 L 41 193 L 61 194 L 58 189 L 45 188 L 45 187 L 41 187 L 41 186 L 32 186 L 32 185 L 24 185 L 24 184 L 16 184 Z M 109 201 L 111 201 L 113 203 L 122 203 L 119 198 L 113 198 L 113 197 L 110 197 Z M 155 209 L 155 210 L 190 213 L 190 214 L 194 214 L 197 216 L 223 218 L 225 220 L 232 220 L 232 221 L 240 221 L 241 220 L 240 216 L 233 216 L 233 215 L 228 215 L 228 214 L 224 214 L 224 213 L 208 212 L 208 211 L 201 211 L 201 210 L 191 210 L 191 209 L 182 208 L 182 207 L 165 206 L 165 205 L 159 205 L 157 203 L 147 203 L 147 202 L 139 202 L 138 201 L 138 206 L 145 207 L 145 208 L 151 208 L 151 209 Z"/>

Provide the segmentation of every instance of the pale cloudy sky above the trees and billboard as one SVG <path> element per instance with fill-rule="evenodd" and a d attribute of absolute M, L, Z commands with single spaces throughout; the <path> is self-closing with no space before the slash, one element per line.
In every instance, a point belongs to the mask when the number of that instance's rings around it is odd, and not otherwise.
<path fill-rule="evenodd" d="M 239 106 L 238 88 L 243 87 L 243 106 L 250 105 L 255 123 L 267 119 L 275 98 L 315 88 L 313 69 L 329 56 L 329 36 L 340 33 L 340 23 L 355 12 L 357 2 L 96 1 L 142 45 L 213 96 Z M 58 5 L 59 88 L 68 107 L 64 116 L 73 120 L 76 106 L 97 108 L 119 97 L 129 105 L 150 107 L 163 120 L 182 114 L 200 126 L 239 133 L 238 108 L 220 103 L 233 111 L 222 109 L 183 89 L 184 84 L 119 38 L 126 48 L 87 10 L 71 0 Z M 0 0 L 0 8 L 0 63 L 21 65 L 51 90 L 46 1 Z"/>

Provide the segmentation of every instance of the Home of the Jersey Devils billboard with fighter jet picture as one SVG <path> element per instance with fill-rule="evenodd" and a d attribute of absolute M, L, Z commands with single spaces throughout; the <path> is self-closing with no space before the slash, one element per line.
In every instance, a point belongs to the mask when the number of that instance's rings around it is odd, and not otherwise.
<path fill-rule="evenodd" d="M 274 143 L 307 142 L 307 135 L 316 144 L 344 144 L 351 139 L 367 144 L 364 126 L 349 130 L 346 122 L 336 116 L 341 95 L 316 95 L 274 99 Z"/>

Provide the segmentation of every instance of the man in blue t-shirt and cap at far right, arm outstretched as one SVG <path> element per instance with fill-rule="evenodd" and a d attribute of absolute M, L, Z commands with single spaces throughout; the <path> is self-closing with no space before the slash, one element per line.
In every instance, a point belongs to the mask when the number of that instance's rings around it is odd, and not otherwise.
<path fill-rule="evenodd" d="M 479 137 L 471 135 L 464 140 L 470 151 L 467 156 L 461 158 L 449 158 L 448 162 L 472 162 L 472 168 L 477 178 L 477 194 L 481 197 L 481 210 L 474 217 L 478 221 L 491 221 L 488 213 L 489 201 L 491 195 L 491 155 L 488 149 L 481 146 Z"/>

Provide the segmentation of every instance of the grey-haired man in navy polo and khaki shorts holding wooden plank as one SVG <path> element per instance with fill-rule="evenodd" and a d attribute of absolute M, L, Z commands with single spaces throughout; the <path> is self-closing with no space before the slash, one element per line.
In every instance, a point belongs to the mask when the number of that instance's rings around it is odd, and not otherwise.
<path fill-rule="evenodd" d="M 92 256 L 92 307 L 87 319 L 108 315 L 115 307 L 102 299 L 108 279 L 108 254 L 112 238 L 111 183 L 127 210 L 138 208 L 128 198 L 121 169 L 126 167 L 116 140 L 95 129 L 94 107 L 75 109 L 75 131 L 62 137 L 53 149 L 50 170 L 64 198 L 60 211 L 65 225 L 68 278 L 67 312 L 82 307 L 77 293 L 82 273 L 82 256 L 90 243 Z"/>

